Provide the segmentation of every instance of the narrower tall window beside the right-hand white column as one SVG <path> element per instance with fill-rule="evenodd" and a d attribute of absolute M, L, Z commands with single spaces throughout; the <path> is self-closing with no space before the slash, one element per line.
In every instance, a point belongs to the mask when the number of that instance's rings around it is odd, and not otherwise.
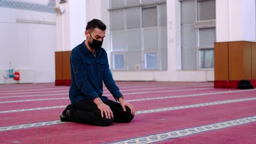
<path fill-rule="evenodd" d="M 181 1 L 182 69 L 214 68 L 215 0 Z"/>

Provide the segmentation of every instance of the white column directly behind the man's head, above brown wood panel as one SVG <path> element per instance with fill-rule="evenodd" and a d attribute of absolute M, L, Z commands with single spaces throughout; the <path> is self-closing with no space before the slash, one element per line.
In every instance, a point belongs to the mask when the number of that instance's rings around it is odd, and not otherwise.
<path fill-rule="evenodd" d="M 65 8 L 63 13 L 56 14 L 56 51 L 71 51 L 85 39 L 86 2 L 56 0 L 56 7 Z"/>

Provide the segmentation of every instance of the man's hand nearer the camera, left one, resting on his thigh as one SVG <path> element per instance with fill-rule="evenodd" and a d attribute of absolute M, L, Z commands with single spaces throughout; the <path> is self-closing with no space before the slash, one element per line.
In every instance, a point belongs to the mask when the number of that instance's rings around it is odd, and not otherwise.
<path fill-rule="evenodd" d="M 111 119 L 114 117 L 112 110 L 110 107 L 103 103 L 100 98 L 94 99 L 94 103 L 97 105 L 98 109 L 101 110 L 101 117 L 104 117 L 103 113 L 105 113 L 106 118 Z"/>

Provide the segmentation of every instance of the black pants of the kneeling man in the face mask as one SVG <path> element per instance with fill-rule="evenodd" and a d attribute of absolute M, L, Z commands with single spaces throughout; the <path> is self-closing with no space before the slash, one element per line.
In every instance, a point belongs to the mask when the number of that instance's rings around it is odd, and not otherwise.
<path fill-rule="evenodd" d="M 70 117 L 72 121 L 77 123 L 99 126 L 108 126 L 113 122 L 129 123 L 134 117 L 127 106 L 125 107 L 126 111 L 124 112 L 123 107 L 113 100 L 108 99 L 104 104 L 110 107 L 114 118 L 107 119 L 105 115 L 104 117 L 101 117 L 100 109 L 98 109 L 97 105 L 91 100 L 80 100 L 77 104 L 72 105 Z"/>

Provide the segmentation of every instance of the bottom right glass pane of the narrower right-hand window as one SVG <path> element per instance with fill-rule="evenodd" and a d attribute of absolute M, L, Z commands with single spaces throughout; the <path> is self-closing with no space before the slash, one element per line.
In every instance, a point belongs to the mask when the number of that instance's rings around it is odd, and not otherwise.
<path fill-rule="evenodd" d="M 200 68 L 214 67 L 214 50 L 200 50 Z"/>

